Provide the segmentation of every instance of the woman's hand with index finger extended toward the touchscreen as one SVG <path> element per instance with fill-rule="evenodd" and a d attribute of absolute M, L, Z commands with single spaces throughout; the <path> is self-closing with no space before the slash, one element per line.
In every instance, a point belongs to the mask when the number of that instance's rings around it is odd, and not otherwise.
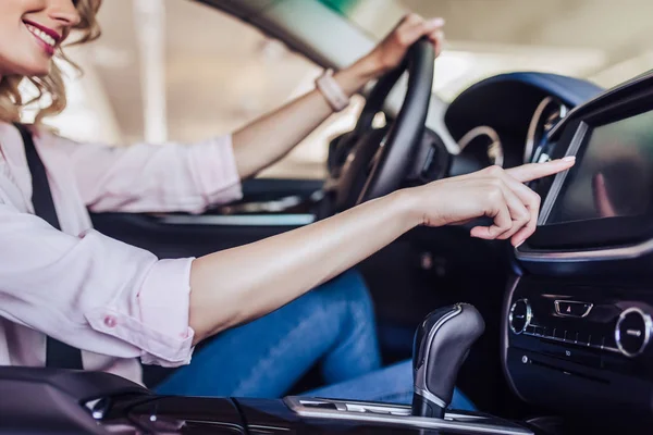
<path fill-rule="evenodd" d="M 503 170 L 484 170 L 433 182 L 414 188 L 419 223 L 428 226 L 460 224 L 491 217 L 490 226 L 475 226 L 472 237 L 508 239 L 519 246 L 530 237 L 538 222 L 540 197 L 523 183 L 574 166 L 574 158 L 531 163 Z"/>

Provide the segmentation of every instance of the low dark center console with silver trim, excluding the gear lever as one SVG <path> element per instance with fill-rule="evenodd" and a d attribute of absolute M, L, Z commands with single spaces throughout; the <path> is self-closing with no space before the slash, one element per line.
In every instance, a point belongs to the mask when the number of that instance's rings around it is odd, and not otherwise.
<path fill-rule="evenodd" d="M 481 413 L 432 419 L 402 405 L 157 396 L 108 373 L 0 368 L 0 434 L 11 435 L 533 434 Z"/>

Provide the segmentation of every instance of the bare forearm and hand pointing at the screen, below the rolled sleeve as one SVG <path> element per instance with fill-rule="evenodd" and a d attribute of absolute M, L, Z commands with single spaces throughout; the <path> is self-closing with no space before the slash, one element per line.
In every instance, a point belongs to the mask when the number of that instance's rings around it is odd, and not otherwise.
<path fill-rule="evenodd" d="M 194 261 L 190 326 L 200 340 L 282 307 L 406 233 L 480 216 L 471 235 L 521 244 L 533 232 L 539 197 L 522 183 L 570 167 L 558 160 L 503 171 L 490 167 L 399 190 L 333 217 Z"/>

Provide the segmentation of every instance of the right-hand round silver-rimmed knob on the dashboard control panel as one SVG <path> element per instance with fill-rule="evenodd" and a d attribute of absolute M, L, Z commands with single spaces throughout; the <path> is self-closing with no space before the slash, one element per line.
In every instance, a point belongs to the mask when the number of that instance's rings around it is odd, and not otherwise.
<path fill-rule="evenodd" d="M 646 348 L 652 330 L 651 315 L 637 307 L 624 310 L 615 326 L 615 341 L 619 351 L 629 358 L 637 357 Z"/>

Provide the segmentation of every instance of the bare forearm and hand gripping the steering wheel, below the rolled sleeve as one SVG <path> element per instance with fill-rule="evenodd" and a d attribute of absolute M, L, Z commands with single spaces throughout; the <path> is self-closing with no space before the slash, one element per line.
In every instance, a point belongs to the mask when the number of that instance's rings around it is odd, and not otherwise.
<path fill-rule="evenodd" d="M 443 25 L 442 18 L 424 21 L 416 14 L 407 15 L 374 50 L 335 74 L 334 79 L 350 97 L 369 80 L 396 67 L 408 48 L 422 36 L 433 41 L 439 53 Z M 279 161 L 332 113 L 322 94 L 313 90 L 234 133 L 234 153 L 241 178 L 252 176 Z"/>

